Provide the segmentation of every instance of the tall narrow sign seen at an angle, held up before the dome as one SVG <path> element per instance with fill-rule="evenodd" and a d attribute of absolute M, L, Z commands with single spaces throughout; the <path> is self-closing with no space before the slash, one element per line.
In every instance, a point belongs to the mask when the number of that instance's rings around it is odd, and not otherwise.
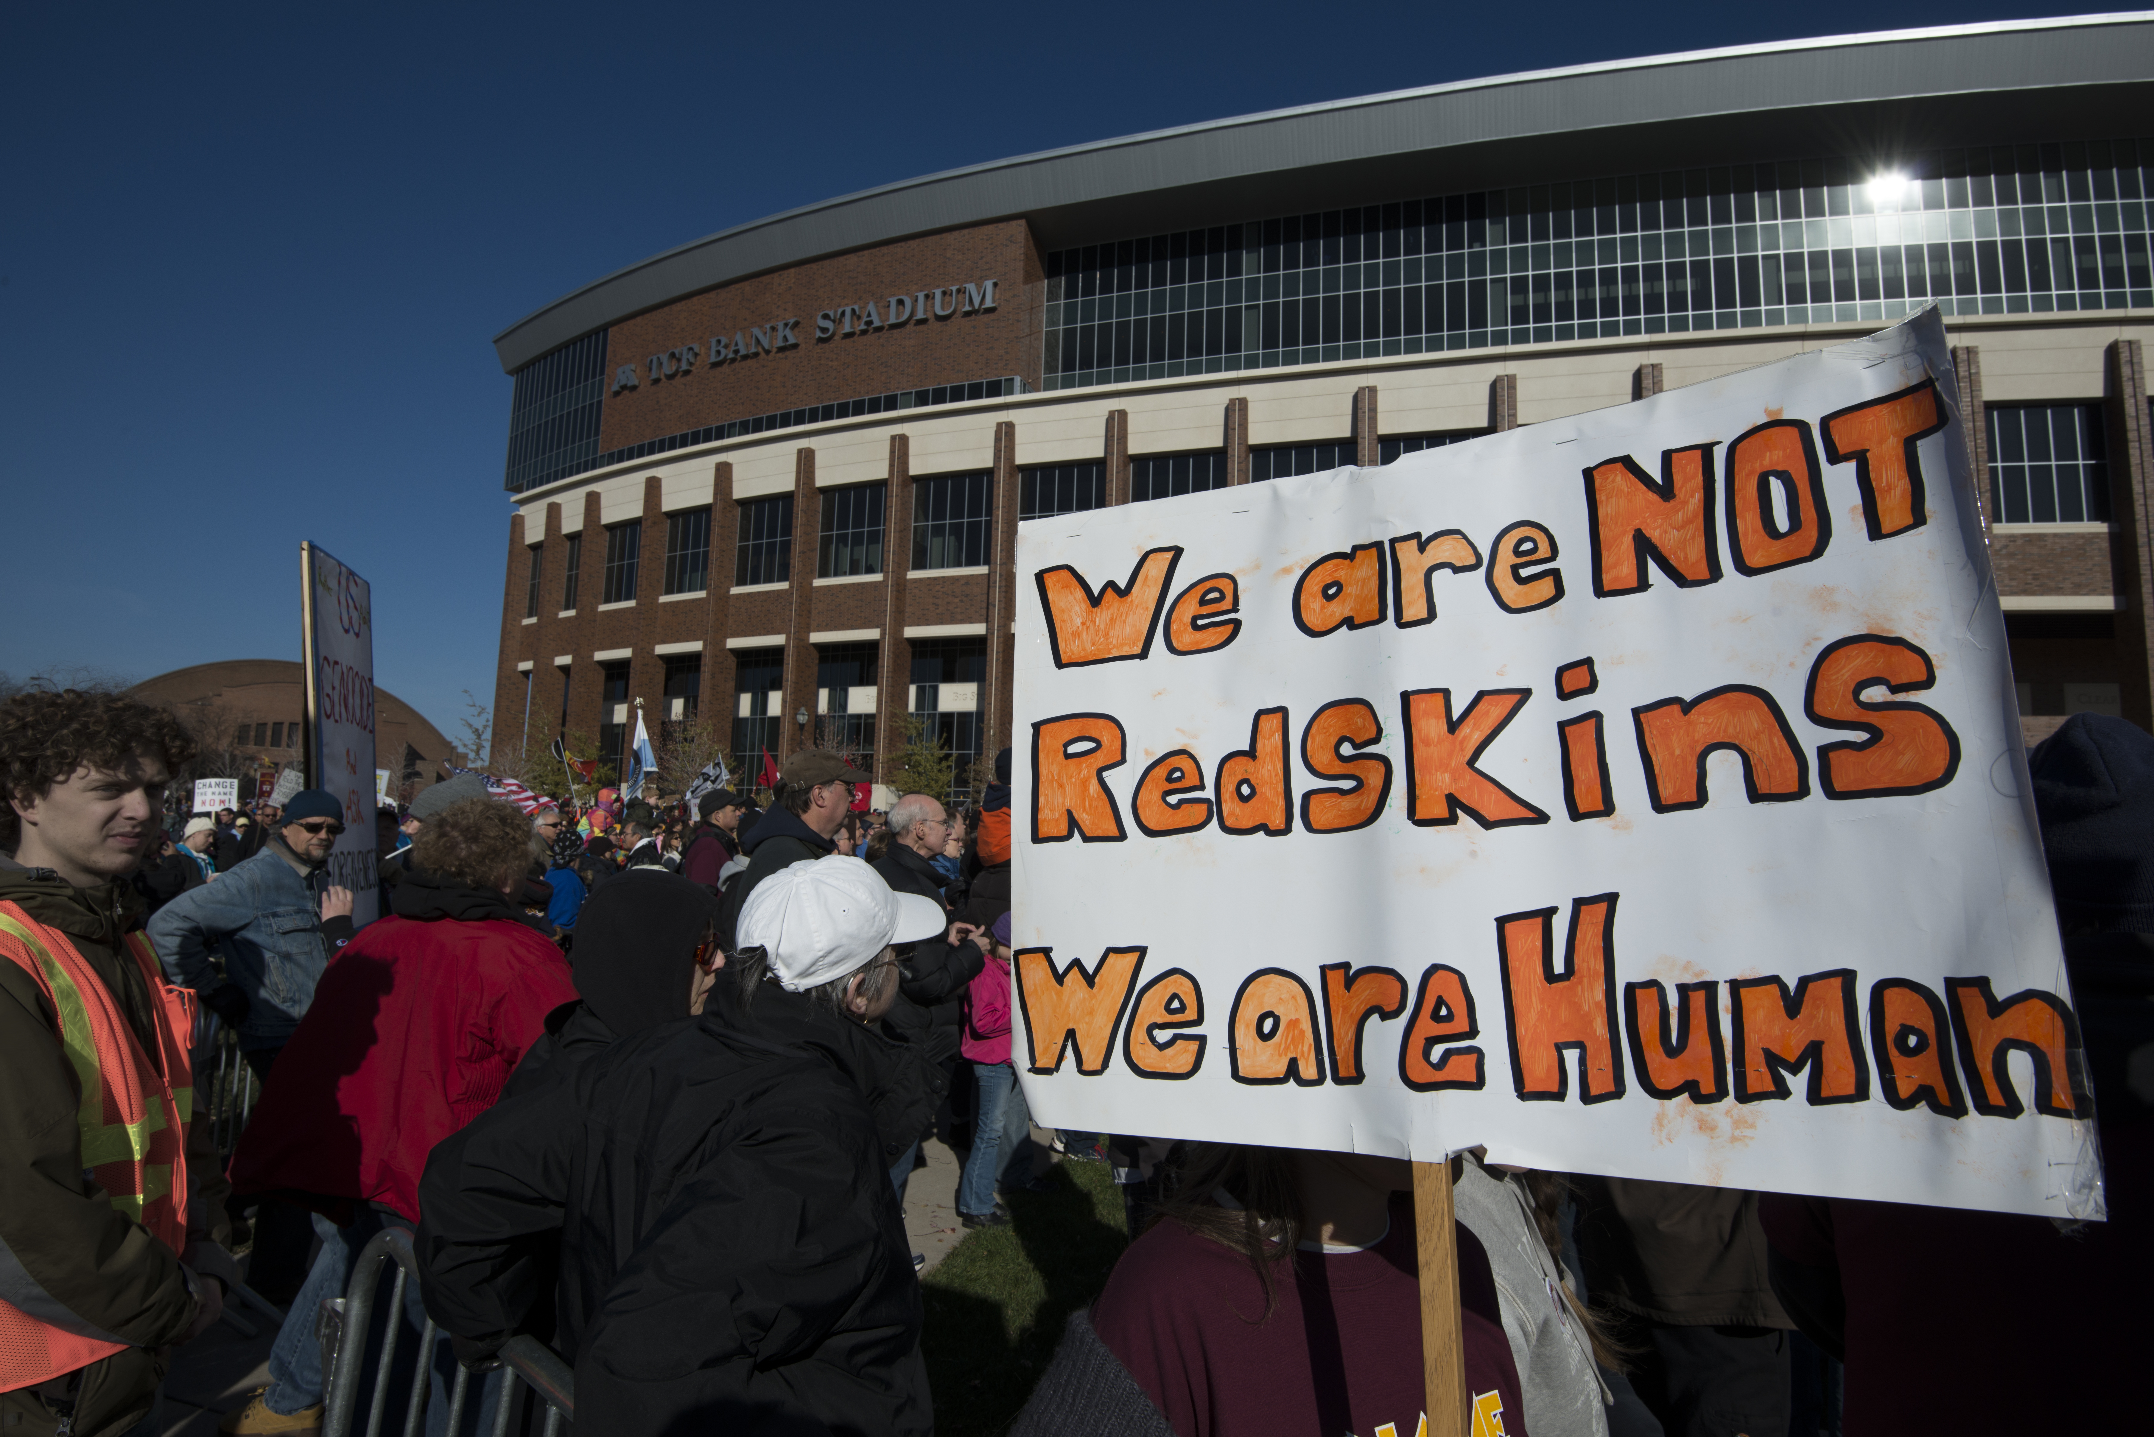
<path fill-rule="evenodd" d="M 306 584 L 306 711 L 312 778 L 336 795 L 345 832 L 330 851 L 330 881 L 351 890 L 351 920 L 377 918 L 375 885 L 375 616 L 358 573 L 299 545 Z"/>

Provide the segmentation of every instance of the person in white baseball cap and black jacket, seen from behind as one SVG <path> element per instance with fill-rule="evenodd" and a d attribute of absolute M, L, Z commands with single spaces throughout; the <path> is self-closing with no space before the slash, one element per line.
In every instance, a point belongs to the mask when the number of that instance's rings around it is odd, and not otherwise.
<path fill-rule="evenodd" d="M 931 1433 L 920 1284 L 883 1181 L 924 1092 L 870 1023 L 892 944 L 941 926 L 853 857 L 765 881 L 728 961 L 741 987 L 435 1146 L 418 1232 L 435 1323 L 465 1353 L 526 1331 L 530 1239 L 558 1232 L 577 1431 Z"/>

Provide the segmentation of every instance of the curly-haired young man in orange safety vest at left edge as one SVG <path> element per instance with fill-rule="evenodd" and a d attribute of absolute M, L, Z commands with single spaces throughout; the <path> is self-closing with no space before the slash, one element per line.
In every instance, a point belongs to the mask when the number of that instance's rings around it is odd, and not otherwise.
<path fill-rule="evenodd" d="M 215 1153 L 190 1142 L 194 995 L 164 980 L 129 883 L 192 758 L 170 713 L 116 694 L 0 704 L 6 1437 L 131 1431 L 235 1275 Z"/>

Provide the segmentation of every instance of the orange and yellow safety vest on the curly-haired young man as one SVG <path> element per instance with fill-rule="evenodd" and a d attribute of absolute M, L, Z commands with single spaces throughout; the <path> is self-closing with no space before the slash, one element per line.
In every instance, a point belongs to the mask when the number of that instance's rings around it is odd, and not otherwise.
<path fill-rule="evenodd" d="M 58 1015 L 60 1049 L 82 1088 L 82 1174 L 112 1206 L 181 1254 L 187 1247 L 187 1118 L 194 1110 L 196 995 L 164 980 L 149 939 L 129 933 L 127 952 L 149 982 L 157 1054 L 144 1054 L 118 1000 L 65 933 L 15 903 L 0 903 L 0 957 L 13 959 Z M 62 1331 L 0 1299 L 0 1392 L 50 1381 L 125 1351 Z"/>

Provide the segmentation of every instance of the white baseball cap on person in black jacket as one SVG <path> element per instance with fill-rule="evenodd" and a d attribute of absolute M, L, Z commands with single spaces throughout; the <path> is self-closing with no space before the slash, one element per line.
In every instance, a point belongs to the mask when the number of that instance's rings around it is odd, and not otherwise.
<path fill-rule="evenodd" d="M 763 948 L 788 993 L 859 972 L 892 944 L 941 937 L 943 909 L 892 892 L 875 868 L 844 853 L 793 864 L 756 883 L 735 924 L 741 948 Z"/>

